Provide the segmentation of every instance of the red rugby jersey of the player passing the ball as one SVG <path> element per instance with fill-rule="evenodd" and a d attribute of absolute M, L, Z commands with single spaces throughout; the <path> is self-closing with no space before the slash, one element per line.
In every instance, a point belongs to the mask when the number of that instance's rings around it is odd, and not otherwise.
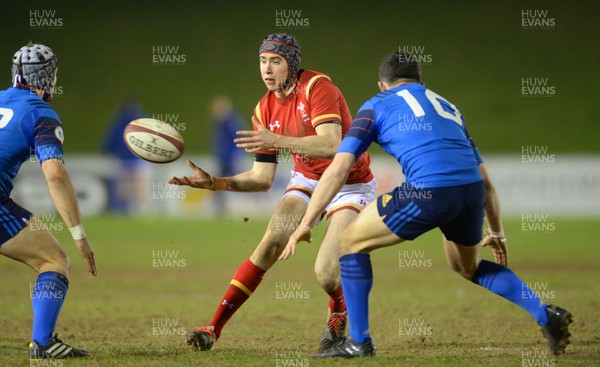
<path fill-rule="evenodd" d="M 315 128 L 320 124 L 340 121 L 343 138 L 352 124 L 352 115 L 340 90 L 327 75 L 312 70 L 301 70 L 294 90 L 284 98 L 278 98 L 275 92 L 267 91 L 254 109 L 254 116 L 273 133 L 294 137 L 317 135 Z M 257 153 L 277 154 L 275 150 L 261 150 Z M 310 158 L 294 151 L 289 153 L 294 158 L 294 170 L 312 180 L 321 178 L 331 163 L 331 159 L 327 158 Z M 346 183 L 372 180 L 370 163 L 369 153 L 363 153 L 350 171 Z"/>

